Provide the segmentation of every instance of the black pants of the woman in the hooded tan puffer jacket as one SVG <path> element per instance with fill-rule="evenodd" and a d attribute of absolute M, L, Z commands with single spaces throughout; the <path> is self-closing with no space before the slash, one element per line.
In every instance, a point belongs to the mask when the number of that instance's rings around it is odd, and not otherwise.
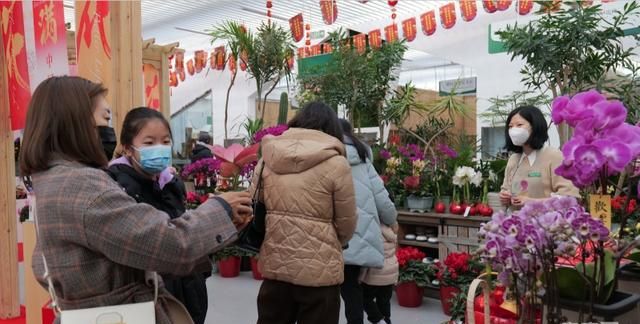
<path fill-rule="evenodd" d="M 265 280 L 258 293 L 258 324 L 338 324 L 340 286 L 304 287 Z"/>

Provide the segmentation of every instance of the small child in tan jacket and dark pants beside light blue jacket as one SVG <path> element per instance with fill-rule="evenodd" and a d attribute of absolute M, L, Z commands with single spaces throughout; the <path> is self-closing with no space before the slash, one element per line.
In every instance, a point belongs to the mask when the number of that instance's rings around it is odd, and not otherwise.
<path fill-rule="evenodd" d="M 382 269 L 364 268 L 360 277 L 364 310 L 374 324 L 391 324 L 391 295 L 399 275 L 396 257 L 398 224 L 392 227 L 380 225 L 384 239 L 384 266 Z"/>

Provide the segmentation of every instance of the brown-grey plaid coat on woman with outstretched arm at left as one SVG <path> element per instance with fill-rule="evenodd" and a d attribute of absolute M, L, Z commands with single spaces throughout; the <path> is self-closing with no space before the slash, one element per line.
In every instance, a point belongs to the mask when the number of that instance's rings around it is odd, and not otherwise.
<path fill-rule="evenodd" d="M 210 199 L 171 220 L 138 204 L 103 170 L 57 160 L 33 175 L 39 236 L 33 270 L 44 253 L 62 310 L 153 300 L 145 270 L 186 275 L 236 237 L 229 207 Z M 170 324 L 161 288 L 156 322 Z"/>

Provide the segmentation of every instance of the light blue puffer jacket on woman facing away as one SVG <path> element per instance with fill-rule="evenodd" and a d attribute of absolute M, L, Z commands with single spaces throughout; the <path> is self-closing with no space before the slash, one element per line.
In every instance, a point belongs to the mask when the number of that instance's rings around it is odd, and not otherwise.
<path fill-rule="evenodd" d="M 351 164 L 358 211 L 358 225 L 349 241 L 349 247 L 344 251 L 344 263 L 381 268 L 384 264 L 384 251 L 380 222 L 385 225 L 395 224 L 398 213 L 371 160 L 367 159 L 363 163 L 352 140 L 345 137 L 344 142 L 347 159 Z M 369 156 L 372 156 L 371 150 Z"/>

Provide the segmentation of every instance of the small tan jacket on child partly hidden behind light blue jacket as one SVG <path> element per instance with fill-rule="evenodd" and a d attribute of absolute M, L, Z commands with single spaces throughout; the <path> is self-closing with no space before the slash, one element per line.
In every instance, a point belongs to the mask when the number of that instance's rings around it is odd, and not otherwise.
<path fill-rule="evenodd" d="M 390 227 L 384 224 L 380 225 L 380 230 L 384 238 L 384 266 L 382 269 L 363 268 L 360 281 L 370 286 L 395 285 L 399 275 L 396 257 L 398 237 Z"/>

